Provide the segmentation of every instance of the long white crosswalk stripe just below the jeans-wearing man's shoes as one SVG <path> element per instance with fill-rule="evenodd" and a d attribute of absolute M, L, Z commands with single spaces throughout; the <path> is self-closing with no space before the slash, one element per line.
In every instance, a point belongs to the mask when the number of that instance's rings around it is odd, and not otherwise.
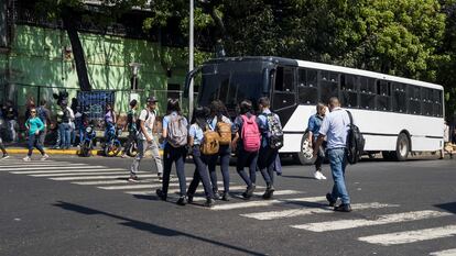
<path fill-rule="evenodd" d="M 317 222 L 317 223 L 307 223 L 302 225 L 292 225 L 294 229 L 307 230 L 313 232 L 326 232 L 326 231 L 339 231 L 348 230 L 361 226 L 373 226 L 373 225 L 384 225 L 408 221 L 417 221 L 425 220 L 431 218 L 439 218 L 452 215 L 449 212 L 438 212 L 438 211 L 414 211 L 414 212 L 401 212 L 393 214 L 380 215 L 377 220 L 340 220 L 340 221 L 328 221 L 328 222 Z"/>

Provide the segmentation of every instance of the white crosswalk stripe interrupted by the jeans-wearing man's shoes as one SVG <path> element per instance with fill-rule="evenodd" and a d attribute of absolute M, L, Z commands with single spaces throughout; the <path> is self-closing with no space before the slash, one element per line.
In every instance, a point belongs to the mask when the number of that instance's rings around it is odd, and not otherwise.
<path fill-rule="evenodd" d="M 362 210 L 362 209 L 380 209 L 380 208 L 399 207 L 399 205 L 371 202 L 371 203 L 354 203 L 351 204 L 351 207 L 352 209 L 356 209 L 356 210 Z M 310 215 L 310 214 L 315 214 L 315 213 L 333 213 L 333 212 L 334 212 L 333 208 L 322 207 L 322 208 L 298 208 L 298 209 L 290 209 L 290 210 L 283 210 L 283 211 L 254 212 L 254 213 L 246 213 L 246 214 L 240 214 L 240 215 L 260 220 L 260 221 L 269 221 L 269 220 L 276 220 L 276 219 L 284 219 L 284 218 L 303 216 L 303 215 Z"/>

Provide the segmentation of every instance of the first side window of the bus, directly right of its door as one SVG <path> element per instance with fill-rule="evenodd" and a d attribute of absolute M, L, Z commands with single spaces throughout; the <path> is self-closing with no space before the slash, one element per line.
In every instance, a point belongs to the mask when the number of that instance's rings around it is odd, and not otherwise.
<path fill-rule="evenodd" d="M 316 87 L 316 70 L 301 68 L 298 70 L 297 93 L 301 104 L 316 104 L 318 89 Z"/>

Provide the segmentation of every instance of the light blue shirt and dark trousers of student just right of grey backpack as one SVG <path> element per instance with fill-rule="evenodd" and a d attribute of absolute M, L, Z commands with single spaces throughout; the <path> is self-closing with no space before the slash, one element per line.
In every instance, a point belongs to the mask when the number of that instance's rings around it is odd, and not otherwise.
<path fill-rule="evenodd" d="M 194 123 L 191 125 L 188 130 L 188 136 L 193 137 L 192 155 L 196 169 L 195 174 L 193 175 L 193 180 L 188 187 L 188 200 L 193 198 L 193 194 L 195 193 L 196 188 L 198 187 L 199 180 L 202 180 L 203 182 L 206 198 L 214 198 L 214 192 L 210 186 L 209 175 L 207 171 L 207 162 L 209 159 L 209 156 L 203 155 L 200 151 L 200 146 L 204 140 L 203 134 L 204 131 L 198 126 L 198 124 Z"/>

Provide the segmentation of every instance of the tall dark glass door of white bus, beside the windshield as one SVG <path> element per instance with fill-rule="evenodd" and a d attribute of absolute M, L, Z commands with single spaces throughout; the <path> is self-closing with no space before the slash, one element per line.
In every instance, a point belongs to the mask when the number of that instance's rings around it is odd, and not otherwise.
<path fill-rule="evenodd" d="M 293 114 L 296 105 L 295 73 L 295 67 L 279 66 L 275 69 L 275 79 L 272 79 L 272 110 L 280 115 L 282 125 Z"/>

